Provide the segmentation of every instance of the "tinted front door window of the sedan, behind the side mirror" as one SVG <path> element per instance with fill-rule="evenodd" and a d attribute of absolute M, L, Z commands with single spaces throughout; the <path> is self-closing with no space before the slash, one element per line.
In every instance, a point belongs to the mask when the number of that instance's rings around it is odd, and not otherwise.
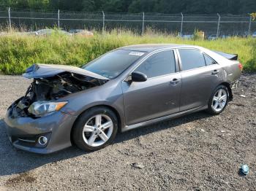
<path fill-rule="evenodd" d="M 135 71 L 146 74 L 148 78 L 159 77 L 176 72 L 176 62 L 173 50 L 165 50 L 151 55 L 138 66 Z"/>

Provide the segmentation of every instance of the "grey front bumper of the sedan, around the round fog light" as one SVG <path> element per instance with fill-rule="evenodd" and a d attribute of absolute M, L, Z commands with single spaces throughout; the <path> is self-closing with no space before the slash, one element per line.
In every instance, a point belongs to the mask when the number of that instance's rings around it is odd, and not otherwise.
<path fill-rule="evenodd" d="M 18 149 L 39 154 L 48 154 L 70 147 L 70 133 L 76 117 L 55 112 L 37 119 L 10 116 L 10 109 L 4 118 L 7 134 L 12 145 Z M 48 143 L 39 144 L 39 136 L 46 136 Z"/>

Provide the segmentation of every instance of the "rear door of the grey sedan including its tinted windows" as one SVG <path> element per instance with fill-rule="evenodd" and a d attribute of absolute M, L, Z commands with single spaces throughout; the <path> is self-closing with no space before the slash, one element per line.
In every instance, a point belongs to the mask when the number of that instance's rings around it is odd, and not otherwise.
<path fill-rule="evenodd" d="M 219 64 L 197 49 L 179 49 L 178 52 L 182 80 L 181 112 L 206 106 L 220 82 Z"/>

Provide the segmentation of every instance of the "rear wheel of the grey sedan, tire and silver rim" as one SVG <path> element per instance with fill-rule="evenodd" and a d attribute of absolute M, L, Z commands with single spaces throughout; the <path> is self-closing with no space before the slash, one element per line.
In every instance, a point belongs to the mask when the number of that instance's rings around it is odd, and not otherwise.
<path fill-rule="evenodd" d="M 207 112 L 210 114 L 220 114 L 227 106 L 228 98 L 229 94 L 227 87 L 225 85 L 219 85 L 208 101 Z"/>

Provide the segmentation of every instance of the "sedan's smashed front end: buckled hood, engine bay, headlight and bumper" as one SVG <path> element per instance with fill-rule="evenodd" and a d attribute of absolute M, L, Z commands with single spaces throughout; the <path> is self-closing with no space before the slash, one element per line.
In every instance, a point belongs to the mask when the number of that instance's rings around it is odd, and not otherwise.
<path fill-rule="evenodd" d="M 85 69 L 48 64 L 34 64 L 23 77 L 32 79 L 31 85 L 7 110 L 5 127 L 14 147 L 40 154 L 72 145 L 70 127 L 77 117 L 61 112 L 65 97 L 108 82 Z"/>

